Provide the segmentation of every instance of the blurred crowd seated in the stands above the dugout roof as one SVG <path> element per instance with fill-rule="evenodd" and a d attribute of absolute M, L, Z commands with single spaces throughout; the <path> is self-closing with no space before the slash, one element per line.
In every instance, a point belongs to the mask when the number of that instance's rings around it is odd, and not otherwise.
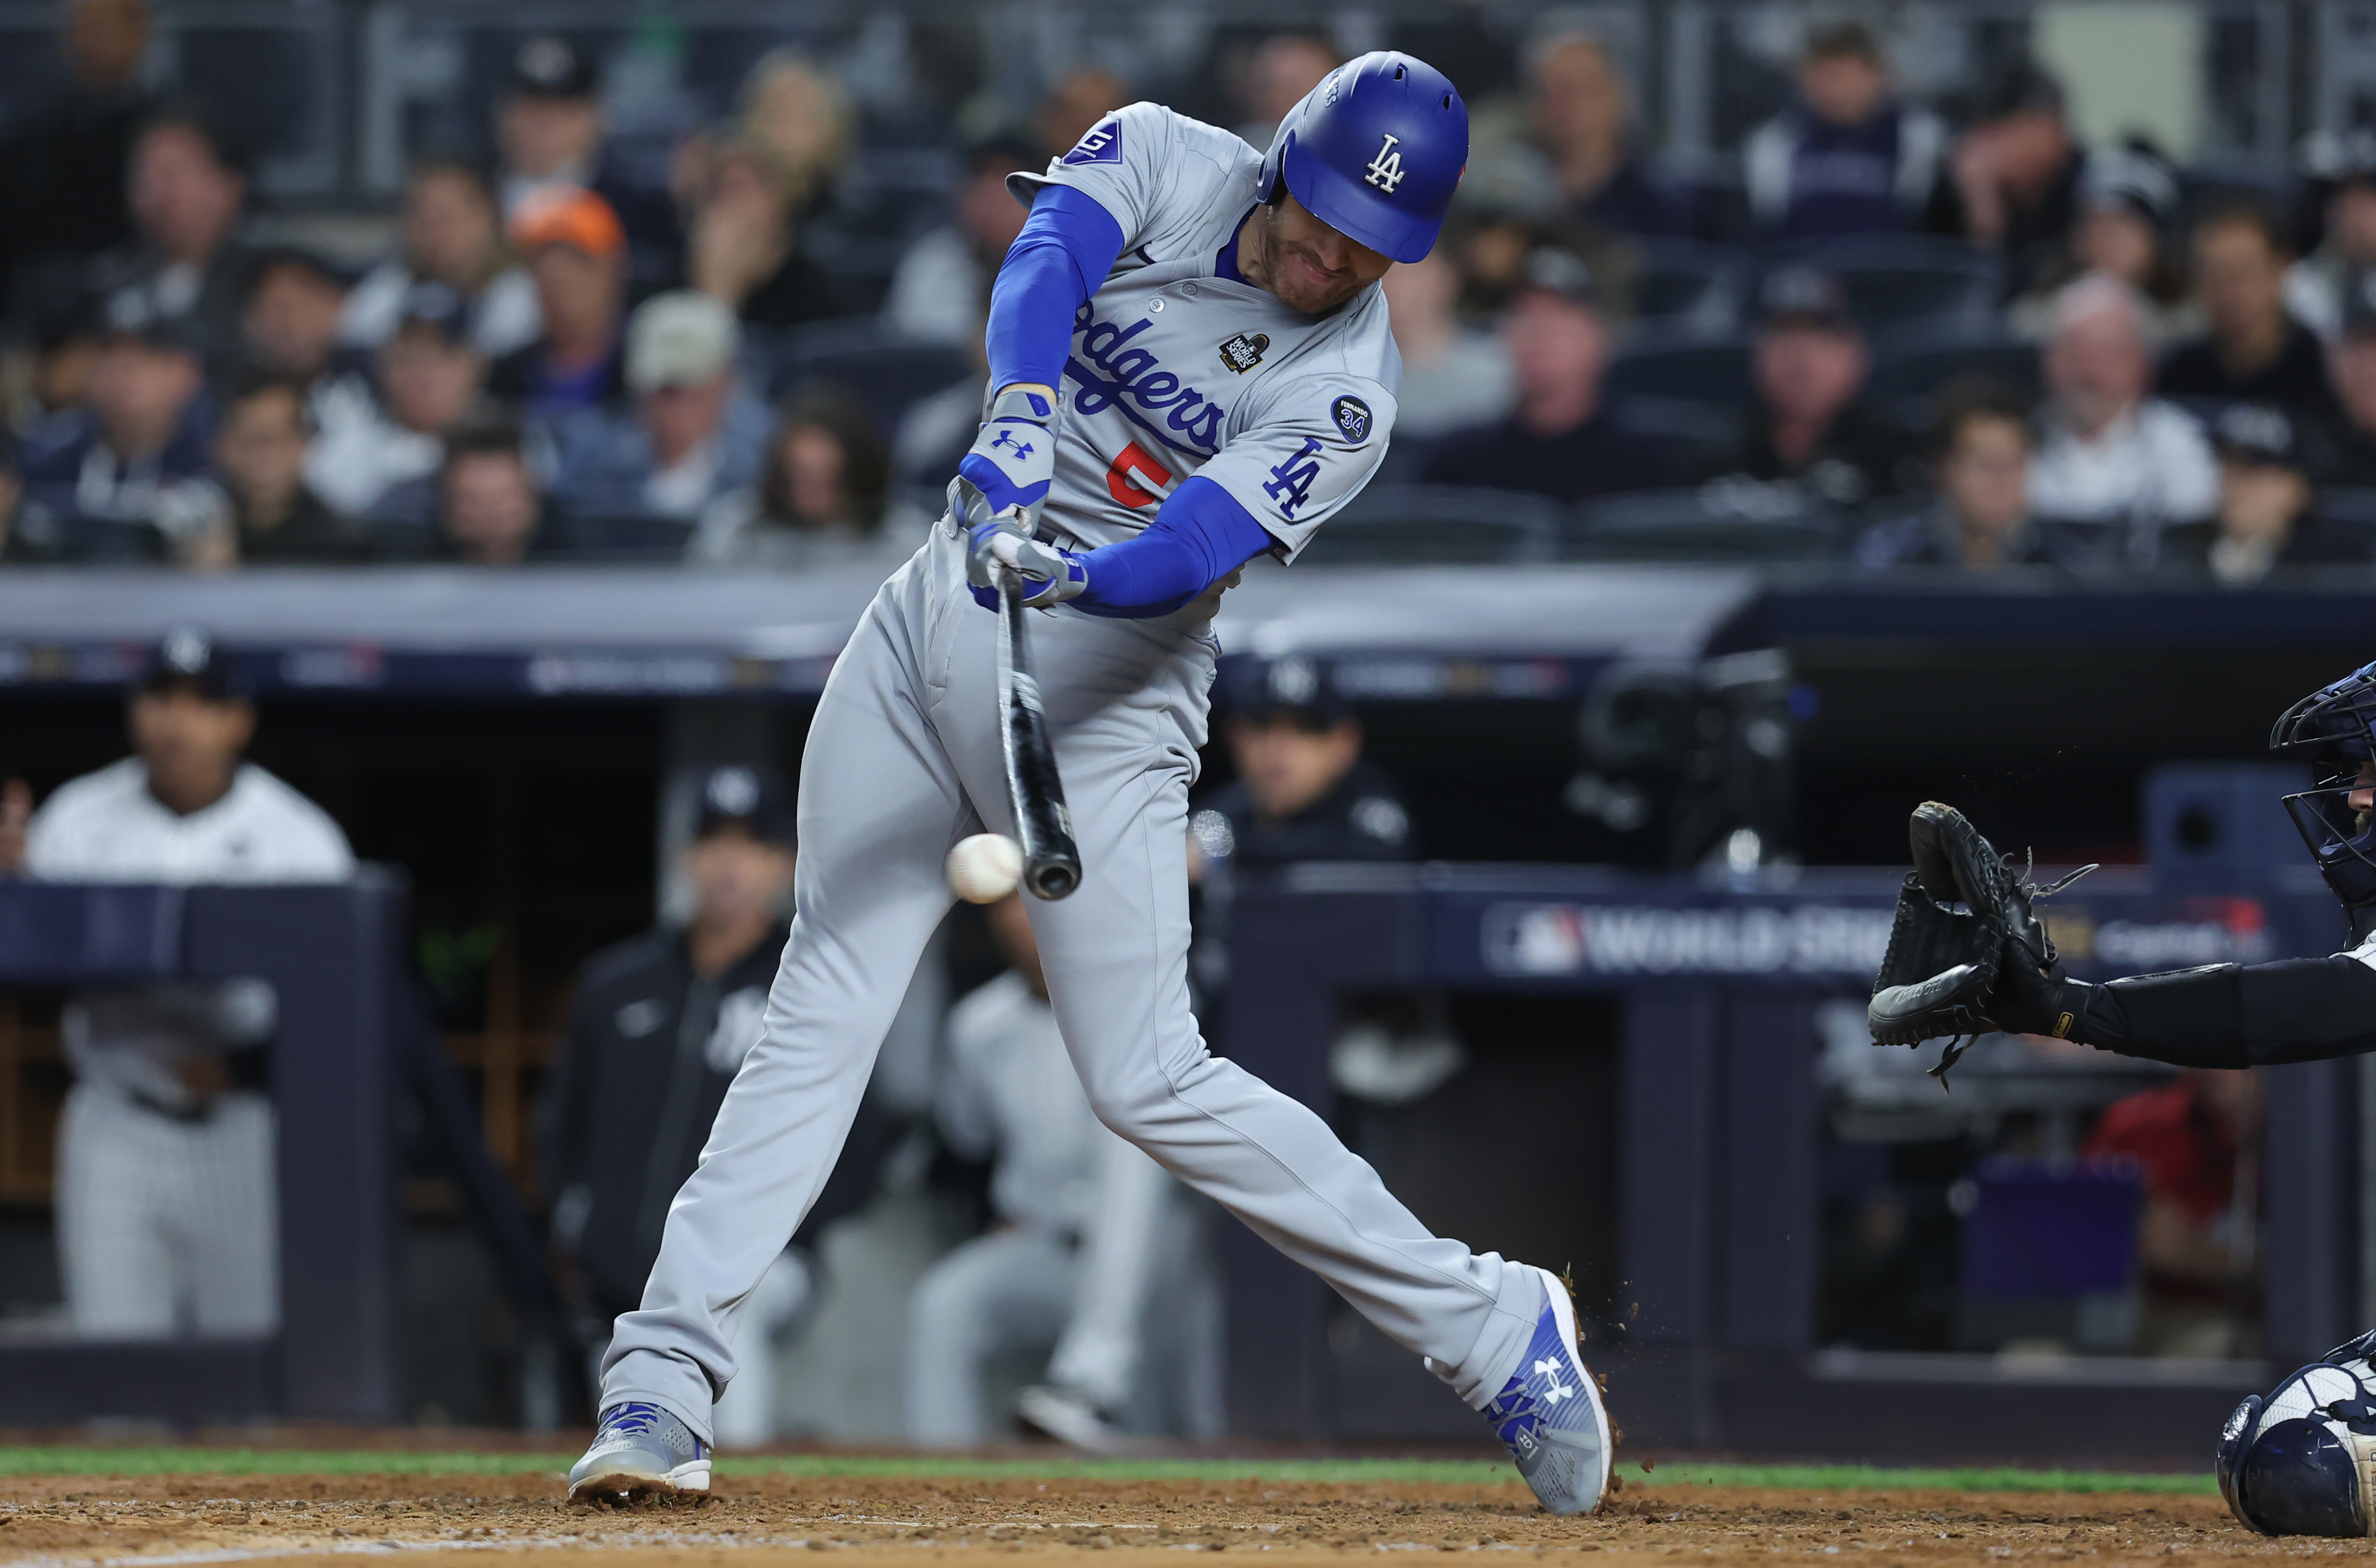
<path fill-rule="evenodd" d="M 0 145 L 5 563 L 891 563 L 979 413 L 1003 176 L 1133 95 L 1057 76 L 853 268 L 820 235 L 870 119 L 817 57 L 627 157 L 606 62 L 520 36 L 451 138 L 494 159 L 421 157 L 392 249 L 349 254 L 252 240 L 219 105 L 143 86 L 140 0 L 64 17 Z M 1682 181 L 1609 43 L 1547 14 L 1518 55 L 1447 242 L 1388 276 L 1397 442 L 1321 561 L 2250 582 L 2376 551 L 2376 138 L 2222 183 L 2084 145 L 2027 62 L 1951 121 L 1830 21 L 1737 171 Z M 1209 97 L 1262 145 L 1335 59 L 1271 33 Z"/>

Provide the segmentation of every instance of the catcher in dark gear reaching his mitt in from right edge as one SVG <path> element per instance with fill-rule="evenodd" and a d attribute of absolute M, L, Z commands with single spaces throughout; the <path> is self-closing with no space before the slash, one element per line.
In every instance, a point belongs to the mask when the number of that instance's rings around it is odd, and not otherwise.
<path fill-rule="evenodd" d="M 2376 1050 L 2376 663 L 2288 708 L 2269 748 L 2307 760 L 2286 796 L 2352 948 L 2269 965 L 2205 965 L 2103 986 L 2069 979 L 2015 879 L 1951 805 L 1915 810 L 1868 1019 L 1877 1045 L 2001 1029 L 2179 1067 L 2274 1067 Z M 2074 872 L 2077 874 L 2077 872 Z M 2069 879 L 2065 877 L 2065 884 Z M 1963 903 L 1963 910 L 1946 905 Z M 1948 1048 L 1939 1069 L 1953 1064 Z M 2376 1330 L 2245 1399 L 2219 1435 L 2219 1490 L 2262 1535 L 2376 1535 Z"/>

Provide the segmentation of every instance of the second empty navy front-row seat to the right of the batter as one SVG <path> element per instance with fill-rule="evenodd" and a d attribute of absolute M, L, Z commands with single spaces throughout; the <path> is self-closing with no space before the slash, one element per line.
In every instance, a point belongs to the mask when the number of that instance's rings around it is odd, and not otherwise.
<path fill-rule="evenodd" d="M 1566 561 L 1827 561 L 1844 539 L 1834 511 L 1756 480 L 1585 501 L 1561 532 Z"/>

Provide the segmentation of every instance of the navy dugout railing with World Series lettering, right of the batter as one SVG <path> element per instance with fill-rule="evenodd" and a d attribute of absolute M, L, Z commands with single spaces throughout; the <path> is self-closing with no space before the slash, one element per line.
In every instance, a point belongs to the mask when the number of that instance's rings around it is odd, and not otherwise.
<path fill-rule="evenodd" d="M 1637 1447 L 2207 1459 L 2219 1421 L 2271 1368 L 2364 1328 L 2355 1316 L 2357 1064 L 2269 1069 L 2264 1361 L 1825 1352 L 1815 1340 L 1818 1019 L 1825 1003 L 1870 991 L 1896 891 L 1898 872 L 1887 870 L 1711 884 L 1587 867 L 1297 867 L 1236 891 L 1221 1045 L 1338 1119 L 1328 1048 L 1347 993 L 1533 995 L 1597 1010 L 1616 1052 L 1604 1105 L 1509 1093 L 1502 1114 L 1466 1128 L 1461 1143 L 1478 1181 L 1540 1219 L 1544 1171 L 1582 1169 L 1559 1150 L 1616 1140 L 1613 1190 L 1585 1186 L 1568 1197 L 1613 1207 L 1616 1254 L 1528 1262 L 1575 1262 L 1580 1278 L 1597 1264 L 1613 1283 L 1606 1311 L 1585 1302 L 1599 1319 L 1587 1359 L 1606 1371 Z M 2162 931 L 2165 943 L 2203 955 L 2312 955 L 2340 936 L 2324 891 L 2207 898 L 2157 889 L 2136 870 L 2098 872 L 2055 908 L 2098 931 L 2115 922 Z M 2124 969 L 2091 953 L 2074 972 Z M 1590 1022 L 1578 1026 L 1578 1050 L 1590 1050 Z M 1423 1183 L 1402 1195 L 1428 1219 L 1435 1195 Z M 1497 1224 L 1492 1207 L 1473 1212 Z M 1473 1435 L 1473 1416 L 1407 1352 L 1361 1330 L 1314 1276 L 1243 1228 L 1221 1228 L 1233 1433 Z"/>

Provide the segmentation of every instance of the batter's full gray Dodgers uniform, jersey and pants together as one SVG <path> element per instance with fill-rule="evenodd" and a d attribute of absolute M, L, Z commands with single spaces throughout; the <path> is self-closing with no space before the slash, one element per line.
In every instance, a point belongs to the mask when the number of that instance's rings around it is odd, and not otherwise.
<path fill-rule="evenodd" d="M 1083 544 L 1145 527 L 1190 473 L 1295 554 L 1376 470 L 1399 366 L 1371 287 L 1314 321 L 1219 280 L 1255 209 L 1233 135 L 1133 105 L 1045 176 L 1105 204 L 1126 259 L 1069 344 L 1043 518 Z M 948 912 L 948 848 L 1012 832 L 993 637 L 943 520 L 884 584 L 817 701 L 801 767 L 791 941 L 758 1045 L 668 1209 L 644 1304 L 618 1319 L 604 1406 L 694 1433 L 732 1380 L 746 1300 L 817 1200 L 917 955 Z M 1031 620 L 1031 660 L 1081 848 L 1081 886 L 1029 903 L 1064 1052 L 1091 1109 L 1314 1269 L 1475 1406 L 1518 1368 L 1540 1278 L 1433 1235 L 1309 1107 L 1212 1055 L 1188 1005 L 1188 786 L 1212 687 L 1212 594 L 1174 615 Z"/>

